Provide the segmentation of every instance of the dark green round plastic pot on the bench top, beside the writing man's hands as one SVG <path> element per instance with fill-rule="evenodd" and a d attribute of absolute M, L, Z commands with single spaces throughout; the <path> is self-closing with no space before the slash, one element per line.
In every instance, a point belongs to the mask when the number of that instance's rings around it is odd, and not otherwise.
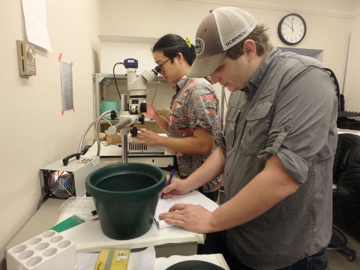
<path fill-rule="evenodd" d="M 85 187 L 93 196 L 104 234 L 126 240 L 150 230 L 165 183 L 164 171 L 153 165 L 121 163 L 92 172 Z"/>

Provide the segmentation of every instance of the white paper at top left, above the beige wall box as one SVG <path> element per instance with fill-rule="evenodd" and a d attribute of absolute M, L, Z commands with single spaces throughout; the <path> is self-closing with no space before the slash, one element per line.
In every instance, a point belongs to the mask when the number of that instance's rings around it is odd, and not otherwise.
<path fill-rule="evenodd" d="M 28 41 L 52 51 L 46 26 L 45 0 L 22 0 L 22 2 Z"/>

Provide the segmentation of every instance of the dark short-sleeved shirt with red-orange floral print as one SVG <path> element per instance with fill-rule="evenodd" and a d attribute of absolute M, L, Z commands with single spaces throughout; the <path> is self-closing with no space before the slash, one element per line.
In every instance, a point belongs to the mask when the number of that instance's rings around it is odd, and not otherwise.
<path fill-rule="evenodd" d="M 170 103 L 170 137 L 190 137 L 193 136 L 195 129 L 203 128 L 217 138 L 220 132 L 219 100 L 211 83 L 204 78 L 184 77 L 173 88 L 176 94 Z M 215 139 L 212 151 L 217 147 L 218 141 Z M 176 152 L 180 177 L 188 177 L 204 163 L 208 156 Z M 203 191 L 212 192 L 219 188 L 220 178 L 218 177 L 205 184 Z"/>

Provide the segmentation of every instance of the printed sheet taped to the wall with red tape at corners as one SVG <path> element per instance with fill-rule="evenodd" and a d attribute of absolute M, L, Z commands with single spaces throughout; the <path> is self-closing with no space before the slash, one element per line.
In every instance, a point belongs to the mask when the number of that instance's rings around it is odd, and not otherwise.
<path fill-rule="evenodd" d="M 61 98 L 63 112 L 74 110 L 73 64 L 60 60 Z"/>

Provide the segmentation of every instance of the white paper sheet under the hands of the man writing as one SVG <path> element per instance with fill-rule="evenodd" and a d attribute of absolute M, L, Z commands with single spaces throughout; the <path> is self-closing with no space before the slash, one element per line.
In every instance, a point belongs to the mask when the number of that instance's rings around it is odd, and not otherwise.
<path fill-rule="evenodd" d="M 209 211 L 214 211 L 219 207 L 217 203 L 211 201 L 208 197 L 204 196 L 197 190 L 193 190 L 184 195 L 173 195 L 173 197 L 169 199 L 160 199 L 157 204 L 157 208 L 155 212 L 155 220 L 159 224 L 159 229 L 174 226 L 165 223 L 164 220 L 159 220 L 159 214 L 169 212 L 170 207 L 173 206 L 174 204 L 201 205 Z"/>

